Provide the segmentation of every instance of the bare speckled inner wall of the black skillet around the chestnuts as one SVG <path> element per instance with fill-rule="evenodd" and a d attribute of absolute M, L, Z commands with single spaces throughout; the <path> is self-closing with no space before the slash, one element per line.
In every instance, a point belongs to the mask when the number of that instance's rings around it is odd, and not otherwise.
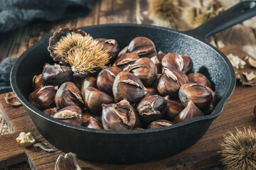
<path fill-rule="evenodd" d="M 82 28 L 82 30 L 92 35 L 93 38 L 117 40 L 120 50 L 129 45 L 133 38 L 145 36 L 154 42 L 157 52 L 161 50 L 164 53 L 176 52 L 190 56 L 193 59 L 193 72 L 200 72 L 210 80 L 218 101 L 225 96 L 230 88 L 230 68 L 223 57 L 209 45 L 183 33 L 166 28 L 129 24 L 90 26 Z M 50 35 L 46 35 L 41 40 L 41 45 L 25 52 L 22 57 L 26 57 L 26 60 L 21 60 L 17 68 L 18 89 L 25 98 L 28 98 L 32 91 L 33 76 L 41 74 L 46 62 L 53 63 L 47 51 L 49 37 Z"/>

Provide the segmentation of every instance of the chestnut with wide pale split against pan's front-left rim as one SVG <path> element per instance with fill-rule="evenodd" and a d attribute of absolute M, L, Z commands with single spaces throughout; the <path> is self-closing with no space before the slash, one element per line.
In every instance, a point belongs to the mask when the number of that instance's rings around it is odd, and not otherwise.
<path fill-rule="evenodd" d="M 82 110 L 78 106 L 67 106 L 62 108 L 52 115 L 52 117 L 73 125 L 82 125 Z"/>

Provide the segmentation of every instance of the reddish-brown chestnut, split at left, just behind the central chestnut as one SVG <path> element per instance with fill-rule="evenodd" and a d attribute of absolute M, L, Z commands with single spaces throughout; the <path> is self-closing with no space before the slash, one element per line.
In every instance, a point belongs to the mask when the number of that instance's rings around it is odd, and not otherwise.
<path fill-rule="evenodd" d="M 149 58 L 140 58 L 134 64 L 129 64 L 123 69 L 124 72 L 131 72 L 135 76 L 139 77 L 144 86 L 150 86 L 157 76 L 157 70 L 154 62 Z"/>

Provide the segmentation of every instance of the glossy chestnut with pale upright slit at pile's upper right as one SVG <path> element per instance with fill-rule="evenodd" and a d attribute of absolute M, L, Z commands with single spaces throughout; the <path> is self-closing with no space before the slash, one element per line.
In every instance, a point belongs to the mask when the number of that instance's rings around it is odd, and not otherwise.
<path fill-rule="evenodd" d="M 193 61 L 187 55 L 178 55 L 176 53 L 168 53 L 161 60 L 163 67 L 174 69 L 179 72 L 188 74 L 193 69 Z"/>

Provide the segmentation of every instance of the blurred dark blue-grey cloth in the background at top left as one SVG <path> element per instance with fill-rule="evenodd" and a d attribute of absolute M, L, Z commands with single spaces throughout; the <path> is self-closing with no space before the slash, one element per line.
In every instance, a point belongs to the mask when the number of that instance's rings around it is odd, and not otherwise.
<path fill-rule="evenodd" d="M 24 26 L 33 19 L 55 21 L 86 16 L 93 0 L 0 0 L 0 32 Z"/>

